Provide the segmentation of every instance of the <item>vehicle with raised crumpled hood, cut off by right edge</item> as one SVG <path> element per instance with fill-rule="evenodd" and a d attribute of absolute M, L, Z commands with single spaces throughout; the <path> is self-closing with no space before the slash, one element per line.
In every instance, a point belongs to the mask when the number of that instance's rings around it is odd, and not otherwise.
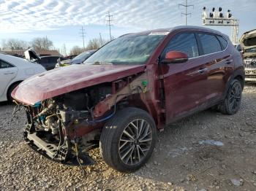
<path fill-rule="evenodd" d="M 256 29 L 245 32 L 240 43 L 244 57 L 245 80 L 256 82 Z"/>

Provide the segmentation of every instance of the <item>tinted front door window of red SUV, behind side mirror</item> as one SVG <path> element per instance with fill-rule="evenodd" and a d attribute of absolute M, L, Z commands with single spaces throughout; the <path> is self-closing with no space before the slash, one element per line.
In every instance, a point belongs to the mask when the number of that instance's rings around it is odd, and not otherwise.
<path fill-rule="evenodd" d="M 197 41 L 195 39 L 195 34 L 193 33 L 182 33 L 177 34 L 170 40 L 167 47 L 162 54 L 162 58 L 165 58 L 165 54 L 169 51 L 181 51 L 187 53 L 189 58 L 198 56 Z"/>

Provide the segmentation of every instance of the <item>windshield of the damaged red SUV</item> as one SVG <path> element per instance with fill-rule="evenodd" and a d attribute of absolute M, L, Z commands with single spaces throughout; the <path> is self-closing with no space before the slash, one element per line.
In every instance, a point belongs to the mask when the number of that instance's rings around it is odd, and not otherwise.
<path fill-rule="evenodd" d="M 143 64 L 167 33 L 129 34 L 106 44 L 84 63 Z"/>

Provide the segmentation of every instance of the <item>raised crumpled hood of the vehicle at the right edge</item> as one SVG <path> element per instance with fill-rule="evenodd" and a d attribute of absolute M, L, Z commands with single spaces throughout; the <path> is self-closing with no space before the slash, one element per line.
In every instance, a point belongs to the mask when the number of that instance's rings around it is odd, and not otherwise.
<path fill-rule="evenodd" d="M 245 32 L 240 39 L 242 50 L 256 47 L 256 29 Z"/>

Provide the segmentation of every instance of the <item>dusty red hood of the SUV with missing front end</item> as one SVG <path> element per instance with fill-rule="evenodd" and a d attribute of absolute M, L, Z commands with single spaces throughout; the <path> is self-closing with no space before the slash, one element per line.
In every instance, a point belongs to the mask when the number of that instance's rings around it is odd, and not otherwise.
<path fill-rule="evenodd" d="M 12 98 L 23 104 L 34 105 L 54 96 L 97 85 L 112 82 L 145 70 L 144 65 L 72 65 L 46 71 L 23 82 L 12 91 Z"/>

